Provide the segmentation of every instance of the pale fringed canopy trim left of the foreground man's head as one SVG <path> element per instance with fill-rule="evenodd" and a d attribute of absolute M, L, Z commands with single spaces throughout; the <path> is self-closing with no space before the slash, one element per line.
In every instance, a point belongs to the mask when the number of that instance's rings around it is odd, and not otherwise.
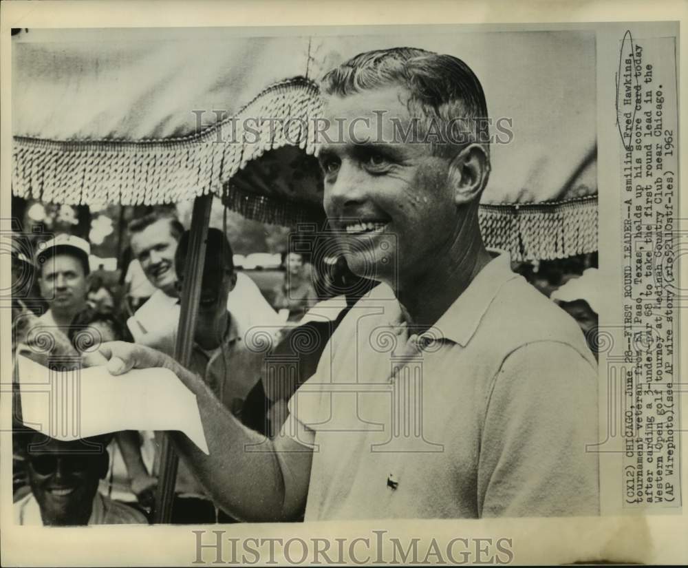
<path fill-rule="evenodd" d="M 310 116 L 321 105 L 305 78 L 268 87 L 231 118 L 185 138 L 41 140 L 14 138 L 12 192 L 63 204 L 164 204 L 222 194 L 240 168 L 270 149 L 298 145 L 314 153 Z M 288 132 L 279 121 L 290 117 Z"/>

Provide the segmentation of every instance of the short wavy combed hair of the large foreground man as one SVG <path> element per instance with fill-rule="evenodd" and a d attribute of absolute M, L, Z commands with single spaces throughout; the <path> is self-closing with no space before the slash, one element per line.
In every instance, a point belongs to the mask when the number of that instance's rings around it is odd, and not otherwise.
<path fill-rule="evenodd" d="M 420 122 L 434 154 L 451 157 L 478 143 L 489 156 L 485 94 L 471 67 L 457 57 L 418 48 L 374 50 L 345 61 L 321 81 L 323 94 L 343 97 L 392 85 L 409 92 L 409 114 Z M 439 143 L 430 132 L 438 132 Z"/>

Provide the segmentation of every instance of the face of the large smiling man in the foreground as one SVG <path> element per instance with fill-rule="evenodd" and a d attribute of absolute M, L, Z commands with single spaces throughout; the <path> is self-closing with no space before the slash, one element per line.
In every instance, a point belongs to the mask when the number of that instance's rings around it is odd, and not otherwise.
<path fill-rule="evenodd" d="M 395 120 L 397 133 L 411 121 L 407 98 L 401 87 L 329 96 L 326 134 L 334 142 L 325 141 L 318 158 L 325 212 L 351 271 L 392 286 L 395 265 L 400 284 L 412 282 L 441 262 L 459 229 L 449 160 L 395 136 Z"/>

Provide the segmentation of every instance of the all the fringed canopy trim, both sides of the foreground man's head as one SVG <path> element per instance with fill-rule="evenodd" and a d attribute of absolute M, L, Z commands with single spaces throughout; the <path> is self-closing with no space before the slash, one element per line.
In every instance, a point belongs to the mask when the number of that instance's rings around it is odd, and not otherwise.
<path fill-rule="evenodd" d="M 208 192 L 246 218 L 295 226 L 322 220 L 323 211 L 279 193 L 234 185 L 248 162 L 286 145 L 314 154 L 317 86 L 292 78 L 268 87 L 232 118 L 193 136 L 166 140 L 40 140 L 14 138 L 15 196 L 63 204 L 164 204 Z M 290 117 L 256 129 L 256 118 Z M 246 120 L 246 121 L 245 121 Z M 252 122 L 251 122 L 252 121 Z M 251 132 L 244 129 L 248 124 Z M 597 250 L 596 195 L 538 204 L 482 204 L 480 224 L 488 246 L 513 260 L 555 259 Z"/>

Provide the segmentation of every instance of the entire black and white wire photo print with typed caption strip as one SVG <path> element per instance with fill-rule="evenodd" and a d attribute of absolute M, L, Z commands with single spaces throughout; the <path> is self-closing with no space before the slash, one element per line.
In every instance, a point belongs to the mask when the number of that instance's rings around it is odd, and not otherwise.
<path fill-rule="evenodd" d="M 432 523 L 680 514 L 678 25 L 641 24 L 12 26 L 3 524 L 509 564 Z"/>

